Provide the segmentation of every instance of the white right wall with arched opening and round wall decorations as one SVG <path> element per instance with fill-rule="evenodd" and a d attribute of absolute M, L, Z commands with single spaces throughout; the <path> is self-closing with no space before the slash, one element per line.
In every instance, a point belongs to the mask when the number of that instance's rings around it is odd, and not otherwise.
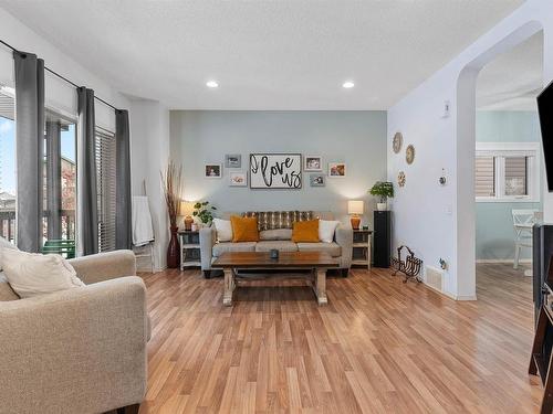
<path fill-rule="evenodd" d="M 449 262 L 445 293 L 476 297 L 474 278 L 474 86 L 479 70 L 543 28 L 544 84 L 553 78 L 553 1 L 529 0 L 388 110 L 388 178 L 406 171 L 407 184 L 394 200 L 394 243 L 414 247 L 426 265 Z M 442 118 L 444 102 L 451 104 Z M 417 156 L 406 166 L 394 155 L 390 136 L 400 130 Z M 448 185 L 438 177 L 446 169 Z M 544 194 L 553 221 L 553 194 Z"/>

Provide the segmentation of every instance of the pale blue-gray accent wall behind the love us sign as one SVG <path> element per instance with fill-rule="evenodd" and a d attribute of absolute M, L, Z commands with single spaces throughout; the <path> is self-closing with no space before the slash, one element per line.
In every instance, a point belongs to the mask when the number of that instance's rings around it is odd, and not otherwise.
<path fill-rule="evenodd" d="M 363 223 L 372 227 L 376 200 L 367 194 L 386 178 L 386 112 L 225 112 L 171 110 L 170 153 L 185 174 L 186 199 L 208 200 L 220 211 L 334 211 L 347 221 L 347 200 L 364 200 Z M 250 152 L 300 152 L 346 162 L 345 178 L 326 177 L 301 190 L 250 190 L 229 187 L 231 171 L 248 171 Z M 240 153 L 240 169 L 225 168 L 225 155 Z M 205 163 L 223 164 L 222 179 L 204 178 Z"/>

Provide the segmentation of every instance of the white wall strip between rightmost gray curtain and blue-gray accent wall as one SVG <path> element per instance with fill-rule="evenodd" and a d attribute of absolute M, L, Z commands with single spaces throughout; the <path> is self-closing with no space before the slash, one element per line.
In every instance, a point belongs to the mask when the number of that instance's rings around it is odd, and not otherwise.
<path fill-rule="evenodd" d="M 167 266 L 169 237 L 159 176 L 169 159 L 169 109 L 154 100 L 132 100 L 131 114 L 132 193 L 142 195 L 145 187 L 156 238 L 154 265 L 160 270 Z"/>

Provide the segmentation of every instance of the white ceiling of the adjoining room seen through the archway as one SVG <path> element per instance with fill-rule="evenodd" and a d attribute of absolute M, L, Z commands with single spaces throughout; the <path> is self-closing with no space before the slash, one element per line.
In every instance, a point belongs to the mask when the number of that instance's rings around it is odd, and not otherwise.
<path fill-rule="evenodd" d="M 543 88 L 543 32 L 495 57 L 478 75 L 481 110 L 538 110 Z"/>

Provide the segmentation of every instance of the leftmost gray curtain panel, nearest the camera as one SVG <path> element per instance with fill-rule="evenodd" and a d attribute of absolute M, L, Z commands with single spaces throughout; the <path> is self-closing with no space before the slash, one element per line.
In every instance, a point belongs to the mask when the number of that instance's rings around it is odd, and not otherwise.
<path fill-rule="evenodd" d="M 17 242 L 25 252 L 42 247 L 44 174 L 44 61 L 13 52 L 17 126 Z"/>

